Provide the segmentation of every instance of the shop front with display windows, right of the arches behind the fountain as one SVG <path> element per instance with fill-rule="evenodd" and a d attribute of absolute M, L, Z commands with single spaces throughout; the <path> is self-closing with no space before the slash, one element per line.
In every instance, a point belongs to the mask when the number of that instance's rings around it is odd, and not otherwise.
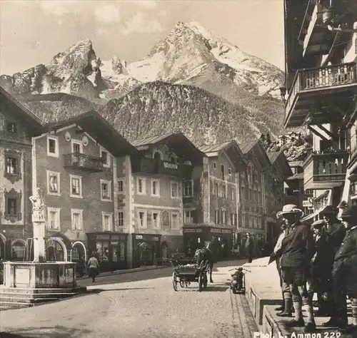
<path fill-rule="evenodd" d="M 87 233 L 89 255 L 96 252 L 101 271 L 123 270 L 128 267 L 126 255 L 128 235 L 112 232 Z"/>

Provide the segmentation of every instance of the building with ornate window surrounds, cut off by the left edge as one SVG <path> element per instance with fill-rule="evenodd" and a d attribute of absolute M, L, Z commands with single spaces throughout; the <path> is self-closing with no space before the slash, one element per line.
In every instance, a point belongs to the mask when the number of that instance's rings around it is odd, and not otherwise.
<path fill-rule="evenodd" d="M 22 260 L 32 236 L 31 137 L 41 121 L 0 87 L 0 257 Z"/>

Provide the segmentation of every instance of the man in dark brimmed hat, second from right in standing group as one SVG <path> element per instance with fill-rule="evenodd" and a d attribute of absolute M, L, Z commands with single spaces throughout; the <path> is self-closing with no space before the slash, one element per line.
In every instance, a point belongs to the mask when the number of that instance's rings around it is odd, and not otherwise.
<path fill-rule="evenodd" d="M 341 205 L 338 205 L 340 207 Z M 335 258 L 336 252 L 341 246 L 343 238 L 346 235 L 345 227 L 337 220 L 338 209 L 333 208 L 333 206 L 328 205 L 326 209 L 321 212 L 323 221 L 325 222 L 325 235 L 326 235 L 326 256 L 324 260 L 324 266 L 326 267 L 326 280 L 324 281 L 325 292 L 327 299 L 321 299 L 324 304 L 324 308 L 328 315 L 331 316 L 333 313 L 333 285 L 332 285 L 332 268 L 333 260 Z"/>

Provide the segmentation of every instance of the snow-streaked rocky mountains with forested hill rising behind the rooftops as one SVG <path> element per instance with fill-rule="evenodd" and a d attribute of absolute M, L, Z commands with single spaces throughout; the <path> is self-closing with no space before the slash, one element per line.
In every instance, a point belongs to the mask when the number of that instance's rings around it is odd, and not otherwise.
<path fill-rule="evenodd" d="M 198 143 L 276 138 L 282 81 L 281 70 L 196 22 L 176 24 L 141 61 L 101 61 L 84 39 L 47 66 L 0 76 L 44 121 L 95 108 L 131 140 L 182 130 Z"/>

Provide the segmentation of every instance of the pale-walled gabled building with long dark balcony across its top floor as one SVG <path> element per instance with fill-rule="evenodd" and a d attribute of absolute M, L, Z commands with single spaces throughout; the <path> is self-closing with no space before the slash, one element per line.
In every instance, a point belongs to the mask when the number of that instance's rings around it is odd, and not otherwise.
<path fill-rule="evenodd" d="M 195 198 L 203 153 L 182 133 L 132 144 L 137 153 L 117 160 L 119 227 L 130 234 L 132 265 L 153 265 L 183 251 L 183 195 Z"/>

